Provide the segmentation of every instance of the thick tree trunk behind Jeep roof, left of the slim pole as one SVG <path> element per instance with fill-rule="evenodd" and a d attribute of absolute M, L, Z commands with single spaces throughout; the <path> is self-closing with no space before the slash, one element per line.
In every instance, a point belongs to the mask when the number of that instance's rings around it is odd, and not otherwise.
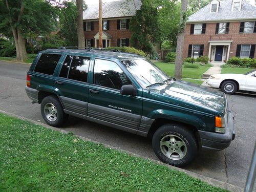
<path fill-rule="evenodd" d="M 84 39 L 83 32 L 83 19 L 82 19 L 82 11 L 83 11 L 83 0 L 76 0 L 76 8 L 77 8 L 77 37 L 78 37 L 78 49 L 82 49 L 86 47 L 86 40 Z"/>

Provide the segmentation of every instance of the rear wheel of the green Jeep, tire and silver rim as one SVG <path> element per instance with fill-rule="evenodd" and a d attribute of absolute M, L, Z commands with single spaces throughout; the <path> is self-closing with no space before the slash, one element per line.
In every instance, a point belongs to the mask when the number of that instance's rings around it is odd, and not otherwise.
<path fill-rule="evenodd" d="M 47 124 L 56 127 L 61 126 L 65 116 L 59 99 L 52 95 L 42 99 L 41 114 Z"/>

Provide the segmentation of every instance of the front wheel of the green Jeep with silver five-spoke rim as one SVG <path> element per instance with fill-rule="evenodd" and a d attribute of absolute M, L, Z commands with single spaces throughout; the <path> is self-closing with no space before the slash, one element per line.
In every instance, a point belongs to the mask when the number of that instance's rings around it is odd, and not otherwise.
<path fill-rule="evenodd" d="M 195 135 L 185 126 L 165 124 L 159 127 L 152 139 L 156 156 L 164 163 L 182 167 L 189 164 L 197 155 Z"/>

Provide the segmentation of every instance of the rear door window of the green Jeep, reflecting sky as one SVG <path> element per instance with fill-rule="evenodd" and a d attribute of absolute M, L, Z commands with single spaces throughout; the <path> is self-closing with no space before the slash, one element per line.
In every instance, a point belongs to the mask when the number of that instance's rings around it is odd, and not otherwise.
<path fill-rule="evenodd" d="M 87 82 L 90 58 L 68 55 L 63 62 L 60 77 Z"/>

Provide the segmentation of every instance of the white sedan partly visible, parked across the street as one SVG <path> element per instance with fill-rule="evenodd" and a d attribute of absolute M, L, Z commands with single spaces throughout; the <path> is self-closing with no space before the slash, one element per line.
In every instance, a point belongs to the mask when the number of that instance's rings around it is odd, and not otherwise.
<path fill-rule="evenodd" d="M 236 91 L 256 92 L 256 70 L 245 74 L 215 74 L 206 83 L 211 88 L 220 88 L 226 94 Z"/>

